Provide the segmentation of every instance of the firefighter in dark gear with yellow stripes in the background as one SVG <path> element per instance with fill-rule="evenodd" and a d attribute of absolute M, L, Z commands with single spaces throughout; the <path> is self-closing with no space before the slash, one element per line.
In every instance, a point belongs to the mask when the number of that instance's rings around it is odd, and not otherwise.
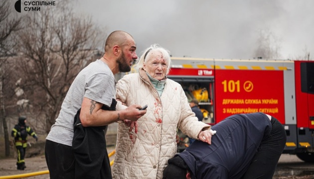
<path fill-rule="evenodd" d="M 38 141 L 36 133 L 26 125 L 26 117 L 18 117 L 18 124 L 14 126 L 11 136 L 14 137 L 15 147 L 17 149 L 17 170 L 24 170 L 25 166 L 25 152 L 27 147 L 27 134 L 32 136 Z"/>

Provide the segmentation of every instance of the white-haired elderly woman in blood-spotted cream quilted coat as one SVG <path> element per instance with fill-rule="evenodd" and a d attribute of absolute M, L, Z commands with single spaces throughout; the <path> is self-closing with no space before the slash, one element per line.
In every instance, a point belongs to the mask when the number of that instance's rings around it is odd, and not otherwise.
<path fill-rule="evenodd" d="M 127 121 L 119 124 L 114 179 L 161 179 L 168 159 L 177 151 L 177 127 L 211 144 L 211 126 L 195 117 L 181 85 L 167 79 L 170 64 L 169 52 L 152 45 L 136 64 L 139 73 L 125 75 L 117 83 L 117 99 L 126 106 L 148 104 L 148 108 L 138 120 L 138 131 L 130 130 Z"/>

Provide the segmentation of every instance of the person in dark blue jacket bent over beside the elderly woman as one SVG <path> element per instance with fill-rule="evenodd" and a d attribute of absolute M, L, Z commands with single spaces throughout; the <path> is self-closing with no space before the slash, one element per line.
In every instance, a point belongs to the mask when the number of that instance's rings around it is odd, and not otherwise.
<path fill-rule="evenodd" d="M 287 141 L 276 118 L 236 114 L 212 129 L 212 144 L 195 141 L 169 159 L 163 179 L 272 179 Z"/>

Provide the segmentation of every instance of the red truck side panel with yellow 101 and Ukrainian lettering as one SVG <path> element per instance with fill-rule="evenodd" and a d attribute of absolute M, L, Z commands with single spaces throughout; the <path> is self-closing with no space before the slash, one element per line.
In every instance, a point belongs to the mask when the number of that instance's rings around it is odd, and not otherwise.
<path fill-rule="evenodd" d="M 283 71 L 216 70 L 215 119 L 264 112 L 285 123 Z"/>

